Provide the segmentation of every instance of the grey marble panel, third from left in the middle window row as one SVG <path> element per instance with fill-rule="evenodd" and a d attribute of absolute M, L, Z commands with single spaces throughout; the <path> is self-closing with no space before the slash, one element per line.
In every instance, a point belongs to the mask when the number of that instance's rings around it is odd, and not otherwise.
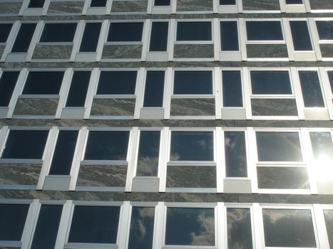
<path fill-rule="evenodd" d="M 171 99 L 170 115 L 215 115 L 215 99 Z"/>

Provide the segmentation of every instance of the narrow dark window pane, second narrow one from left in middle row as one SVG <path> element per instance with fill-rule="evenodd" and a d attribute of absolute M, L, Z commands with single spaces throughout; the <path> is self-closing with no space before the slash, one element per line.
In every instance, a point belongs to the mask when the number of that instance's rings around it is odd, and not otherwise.
<path fill-rule="evenodd" d="M 91 71 L 76 71 L 73 73 L 66 107 L 84 107 L 90 76 Z"/>

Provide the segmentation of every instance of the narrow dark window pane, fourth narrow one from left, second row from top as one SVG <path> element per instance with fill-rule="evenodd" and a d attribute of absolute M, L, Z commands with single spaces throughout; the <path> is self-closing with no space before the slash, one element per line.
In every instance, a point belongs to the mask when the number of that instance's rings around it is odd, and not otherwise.
<path fill-rule="evenodd" d="M 221 21 L 221 50 L 239 51 L 237 21 Z"/>

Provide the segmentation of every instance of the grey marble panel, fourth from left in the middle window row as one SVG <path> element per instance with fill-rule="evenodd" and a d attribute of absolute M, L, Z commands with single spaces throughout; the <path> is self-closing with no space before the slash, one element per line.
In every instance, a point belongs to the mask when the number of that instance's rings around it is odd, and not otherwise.
<path fill-rule="evenodd" d="M 252 115 L 297 116 L 294 99 L 251 99 Z"/>

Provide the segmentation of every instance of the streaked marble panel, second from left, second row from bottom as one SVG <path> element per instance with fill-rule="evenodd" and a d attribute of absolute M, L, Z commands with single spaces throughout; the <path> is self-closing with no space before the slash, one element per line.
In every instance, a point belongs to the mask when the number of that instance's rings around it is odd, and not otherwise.
<path fill-rule="evenodd" d="M 77 186 L 125 186 L 125 165 L 81 165 Z"/>

